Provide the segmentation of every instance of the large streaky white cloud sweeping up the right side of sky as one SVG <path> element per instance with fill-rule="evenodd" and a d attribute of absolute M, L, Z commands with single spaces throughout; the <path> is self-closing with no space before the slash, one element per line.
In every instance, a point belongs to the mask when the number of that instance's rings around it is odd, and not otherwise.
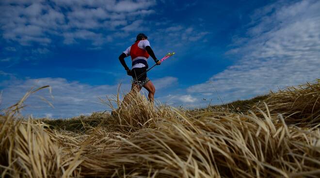
<path fill-rule="evenodd" d="M 188 92 L 217 91 L 230 101 L 319 78 L 320 1 L 268 7 L 256 11 L 247 35 L 228 52 L 240 60 Z"/>

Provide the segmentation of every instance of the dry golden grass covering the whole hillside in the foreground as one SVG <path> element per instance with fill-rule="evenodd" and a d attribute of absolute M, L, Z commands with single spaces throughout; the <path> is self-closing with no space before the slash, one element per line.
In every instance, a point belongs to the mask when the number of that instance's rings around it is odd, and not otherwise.
<path fill-rule="evenodd" d="M 80 119 L 81 132 L 22 119 L 24 97 L 0 116 L 1 176 L 319 177 L 319 86 L 271 93 L 245 114 L 153 109 L 138 95 L 115 117 Z"/>

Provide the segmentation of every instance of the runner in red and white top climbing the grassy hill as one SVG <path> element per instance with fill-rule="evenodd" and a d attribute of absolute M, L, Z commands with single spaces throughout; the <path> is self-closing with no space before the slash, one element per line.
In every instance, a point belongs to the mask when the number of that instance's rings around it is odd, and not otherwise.
<path fill-rule="evenodd" d="M 128 68 L 125 61 L 125 58 L 128 56 L 131 56 L 131 70 Z M 139 92 L 142 88 L 145 88 L 149 92 L 148 99 L 153 105 L 156 89 L 146 74 L 146 70 L 148 69 L 147 59 L 149 58 L 149 56 L 151 56 L 151 58 L 156 62 L 157 65 L 161 64 L 161 61 L 156 58 L 153 50 L 150 47 L 148 37 L 143 33 L 138 34 L 135 43 L 129 46 L 119 56 L 119 60 L 127 71 L 127 74 L 132 76 L 131 91 L 125 96 L 123 103 L 128 104 L 128 100 L 130 99 L 130 97 L 128 97 L 129 95 L 132 96 L 136 92 Z"/>

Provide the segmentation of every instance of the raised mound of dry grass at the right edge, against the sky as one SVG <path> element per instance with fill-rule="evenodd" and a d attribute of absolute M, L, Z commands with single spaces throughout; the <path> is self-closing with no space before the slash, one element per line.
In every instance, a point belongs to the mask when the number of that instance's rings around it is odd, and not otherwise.
<path fill-rule="evenodd" d="M 281 113 L 289 124 L 315 126 L 320 122 L 320 79 L 272 93 L 265 102 L 272 115 Z M 265 104 L 257 105 L 267 111 Z"/>

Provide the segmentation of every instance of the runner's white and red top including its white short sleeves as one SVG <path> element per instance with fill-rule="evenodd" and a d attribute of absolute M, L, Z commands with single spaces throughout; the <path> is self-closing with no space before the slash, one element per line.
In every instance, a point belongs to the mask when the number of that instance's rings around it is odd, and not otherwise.
<path fill-rule="evenodd" d="M 138 44 L 136 44 L 136 43 L 138 43 Z M 131 56 L 132 63 L 138 59 L 144 59 L 145 61 L 147 61 L 149 55 L 146 52 L 145 47 L 150 46 L 149 41 L 148 40 L 141 40 L 136 43 L 129 46 L 123 53 L 125 53 L 127 56 Z M 135 48 L 136 46 L 134 46 L 134 45 L 137 45 L 137 47 L 141 50 L 136 49 Z M 135 51 L 131 51 L 131 47 Z M 145 65 L 143 63 L 137 63 L 132 66 L 132 69 L 133 68 L 142 68 L 142 67 L 145 67 Z"/>

